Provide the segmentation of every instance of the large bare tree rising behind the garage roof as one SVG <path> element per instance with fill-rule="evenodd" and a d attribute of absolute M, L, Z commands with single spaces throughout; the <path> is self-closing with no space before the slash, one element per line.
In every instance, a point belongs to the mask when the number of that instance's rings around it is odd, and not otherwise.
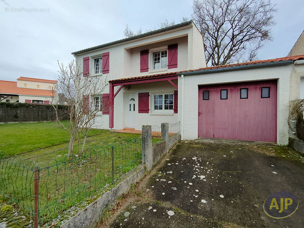
<path fill-rule="evenodd" d="M 194 0 L 192 9 L 209 66 L 254 60 L 272 40 L 276 9 L 270 0 Z"/>

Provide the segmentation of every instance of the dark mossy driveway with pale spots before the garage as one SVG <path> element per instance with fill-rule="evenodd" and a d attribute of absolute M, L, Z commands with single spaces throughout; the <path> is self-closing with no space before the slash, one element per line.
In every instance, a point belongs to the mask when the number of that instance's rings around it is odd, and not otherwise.
<path fill-rule="evenodd" d="M 287 147 L 179 143 L 124 201 L 110 227 L 304 227 L 300 159 Z M 263 211 L 264 200 L 278 191 L 299 200 L 285 219 Z"/>

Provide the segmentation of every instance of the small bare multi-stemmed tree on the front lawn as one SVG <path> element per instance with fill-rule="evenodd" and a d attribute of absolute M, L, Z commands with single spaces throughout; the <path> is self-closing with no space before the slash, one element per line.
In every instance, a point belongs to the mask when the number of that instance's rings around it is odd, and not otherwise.
<path fill-rule="evenodd" d="M 57 105 L 51 102 L 56 113 L 55 122 L 57 125 L 71 134 L 68 156 L 71 159 L 73 154 L 76 136 L 78 139 L 78 149 L 80 156 L 83 153 L 88 131 L 92 126 L 97 126 L 96 116 L 100 113 L 99 105 L 95 106 L 94 98 L 100 95 L 107 86 L 106 77 L 101 80 L 98 77 L 83 77 L 80 67 L 75 67 L 74 60 L 64 67 L 58 61 L 60 70 L 58 76 L 57 92 L 63 94 L 65 101 L 68 103 L 69 124 L 66 126 L 62 119 L 59 118 Z M 103 104 L 106 105 L 106 104 Z M 82 148 L 80 148 L 80 138 L 83 137 Z"/>

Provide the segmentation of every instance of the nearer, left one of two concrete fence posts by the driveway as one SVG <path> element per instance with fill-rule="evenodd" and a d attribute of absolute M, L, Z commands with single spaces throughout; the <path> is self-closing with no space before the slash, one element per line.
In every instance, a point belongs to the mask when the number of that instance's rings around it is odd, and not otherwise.
<path fill-rule="evenodd" d="M 150 170 L 153 165 L 152 158 L 152 127 L 150 125 L 143 125 L 141 127 L 142 133 L 142 163 L 147 165 Z"/>

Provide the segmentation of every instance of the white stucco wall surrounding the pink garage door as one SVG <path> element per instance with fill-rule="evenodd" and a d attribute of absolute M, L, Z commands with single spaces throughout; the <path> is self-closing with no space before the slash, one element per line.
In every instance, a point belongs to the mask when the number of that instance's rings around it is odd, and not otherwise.
<path fill-rule="evenodd" d="M 277 143 L 288 144 L 289 102 L 300 97 L 300 78 L 304 75 L 304 64 L 288 64 L 284 66 L 263 67 L 255 69 L 227 71 L 208 74 L 184 76 L 184 132 L 183 139 L 198 138 L 198 86 L 223 84 L 232 82 L 260 81 L 277 79 Z M 181 77 L 178 77 L 181 87 Z M 178 94 L 178 105 L 181 104 L 181 93 Z M 181 120 L 181 112 L 178 119 Z"/>

